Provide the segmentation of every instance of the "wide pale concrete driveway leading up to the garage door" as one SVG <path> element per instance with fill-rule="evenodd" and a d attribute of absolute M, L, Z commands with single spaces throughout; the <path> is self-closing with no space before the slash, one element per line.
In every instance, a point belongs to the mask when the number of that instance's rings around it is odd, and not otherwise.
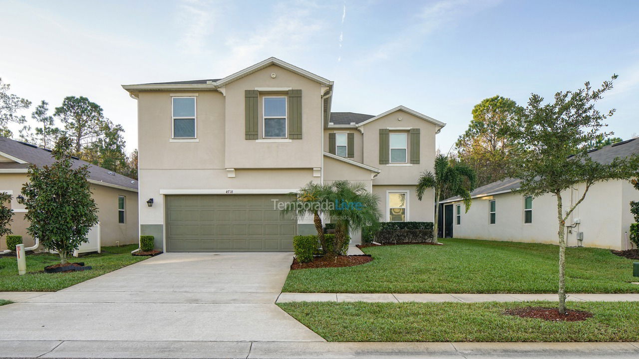
<path fill-rule="evenodd" d="M 4 340 L 323 341 L 275 305 L 289 253 L 166 253 L 0 307 Z"/>

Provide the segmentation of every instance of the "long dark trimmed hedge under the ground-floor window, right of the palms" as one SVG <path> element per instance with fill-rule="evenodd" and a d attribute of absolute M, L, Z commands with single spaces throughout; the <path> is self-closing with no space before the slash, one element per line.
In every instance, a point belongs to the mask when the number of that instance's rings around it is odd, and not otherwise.
<path fill-rule="evenodd" d="M 362 229 L 362 243 L 427 243 L 433 241 L 433 222 L 380 222 Z"/>

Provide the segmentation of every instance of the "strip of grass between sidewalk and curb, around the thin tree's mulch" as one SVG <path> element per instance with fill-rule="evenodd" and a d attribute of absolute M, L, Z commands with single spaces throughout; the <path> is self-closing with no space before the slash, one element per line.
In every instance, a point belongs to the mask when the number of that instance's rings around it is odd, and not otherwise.
<path fill-rule="evenodd" d="M 279 303 L 329 342 L 636 342 L 639 303 L 571 302 L 593 317 L 550 322 L 503 314 L 517 303 Z"/>

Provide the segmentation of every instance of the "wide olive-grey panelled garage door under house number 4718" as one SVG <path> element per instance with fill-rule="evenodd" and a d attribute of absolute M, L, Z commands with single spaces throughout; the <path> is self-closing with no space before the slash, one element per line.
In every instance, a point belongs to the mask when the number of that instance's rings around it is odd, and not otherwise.
<path fill-rule="evenodd" d="M 284 195 L 167 195 L 169 252 L 291 252 L 297 222 L 273 210 Z"/>

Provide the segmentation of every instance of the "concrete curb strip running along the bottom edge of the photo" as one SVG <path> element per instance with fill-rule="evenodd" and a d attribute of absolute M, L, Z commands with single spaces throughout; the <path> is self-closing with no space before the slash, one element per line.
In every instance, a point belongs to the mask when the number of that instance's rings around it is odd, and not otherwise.
<path fill-rule="evenodd" d="M 0 340 L 4 358 L 637 358 L 639 343 Z"/>

